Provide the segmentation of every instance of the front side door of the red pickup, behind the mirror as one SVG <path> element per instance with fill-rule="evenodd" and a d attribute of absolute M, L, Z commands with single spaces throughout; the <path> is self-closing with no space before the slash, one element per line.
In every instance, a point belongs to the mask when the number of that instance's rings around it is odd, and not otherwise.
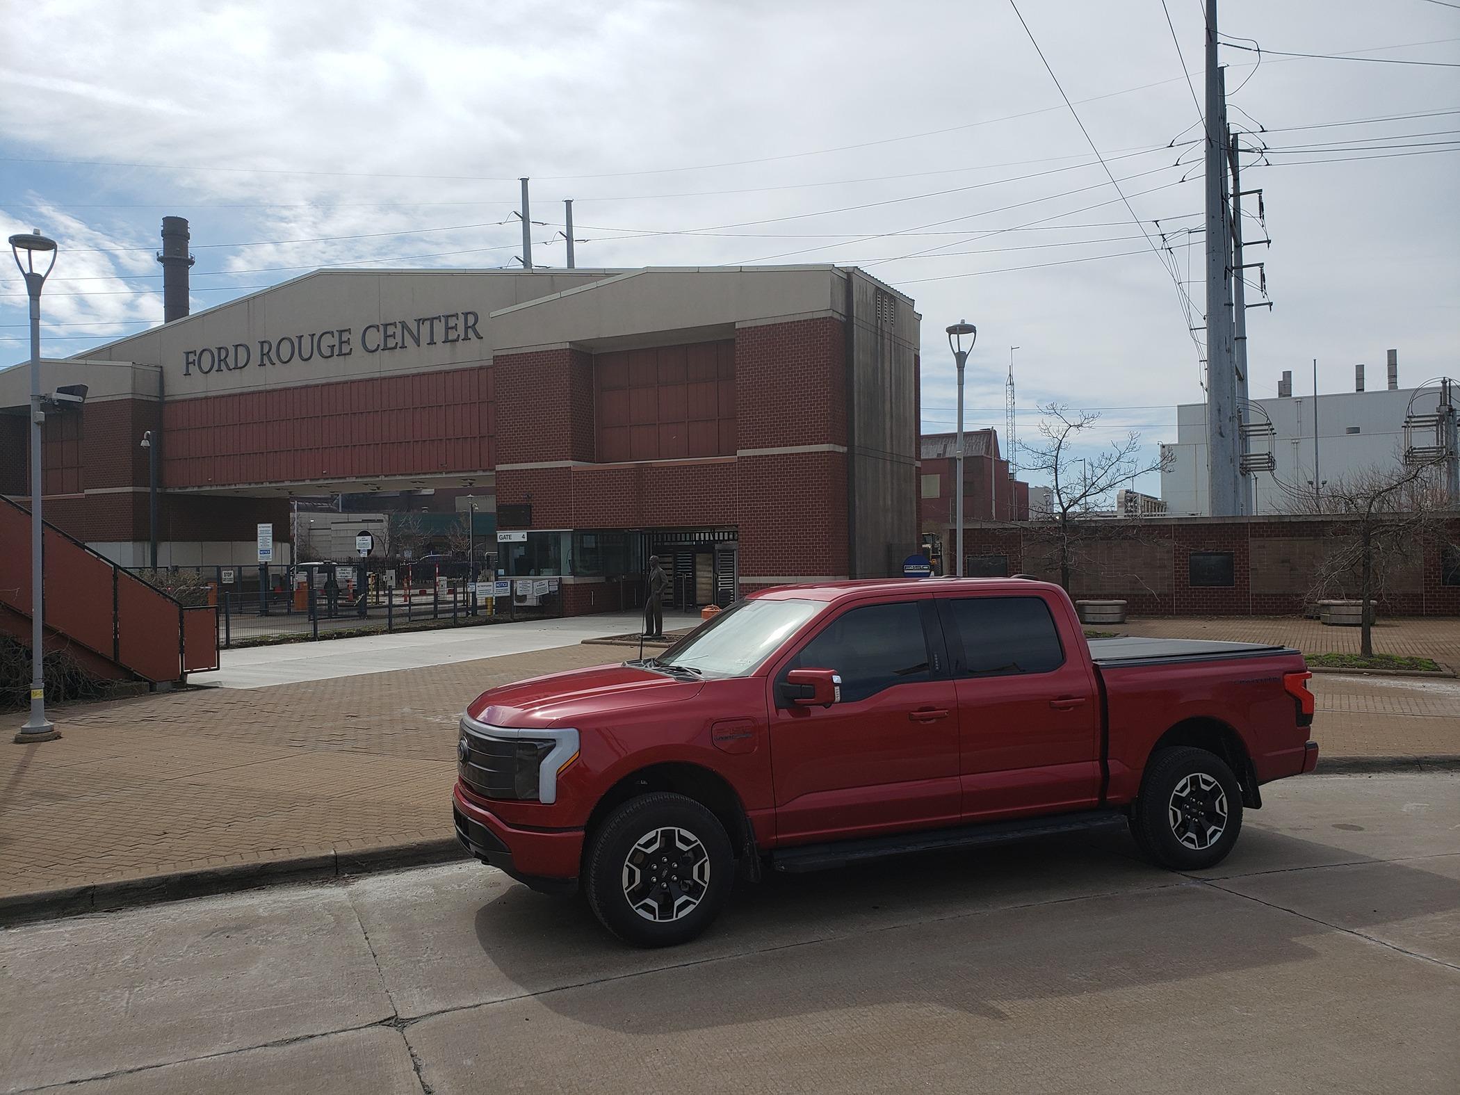
<path fill-rule="evenodd" d="M 831 707 L 788 704 L 791 669 L 841 675 Z M 931 597 L 845 609 L 772 673 L 778 842 L 953 825 L 958 696 Z"/>

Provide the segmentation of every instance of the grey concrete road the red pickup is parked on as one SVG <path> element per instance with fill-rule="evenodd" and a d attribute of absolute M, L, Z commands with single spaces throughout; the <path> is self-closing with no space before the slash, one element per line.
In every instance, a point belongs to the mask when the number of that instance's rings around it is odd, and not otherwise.
<path fill-rule="evenodd" d="M 660 952 L 476 864 L 13 929 L 0 1086 L 1460 1089 L 1460 778 L 1266 797 L 1200 877 L 1047 840 L 774 877 Z"/>

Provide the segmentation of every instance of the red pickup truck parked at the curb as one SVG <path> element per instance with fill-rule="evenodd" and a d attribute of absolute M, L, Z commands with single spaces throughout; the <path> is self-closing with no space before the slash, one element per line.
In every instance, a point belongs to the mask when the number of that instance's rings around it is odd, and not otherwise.
<path fill-rule="evenodd" d="M 1261 784 L 1315 766 L 1308 677 L 1283 647 L 1088 641 L 1040 581 L 785 585 L 657 657 L 480 695 L 456 828 L 639 946 L 694 939 L 762 867 L 1105 825 L 1210 867 Z"/>

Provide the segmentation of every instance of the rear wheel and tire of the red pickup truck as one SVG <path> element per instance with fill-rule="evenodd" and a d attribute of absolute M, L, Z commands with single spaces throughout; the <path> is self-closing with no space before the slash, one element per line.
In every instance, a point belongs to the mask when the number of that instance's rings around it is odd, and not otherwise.
<path fill-rule="evenodd" d="M 1242 831 L 1242 788 L 1216 753 L 1175 746 L 1152 753 L 1130 810 L 1130 835 L 1162 867 L 1202 870 L 1226 858 Z"/>

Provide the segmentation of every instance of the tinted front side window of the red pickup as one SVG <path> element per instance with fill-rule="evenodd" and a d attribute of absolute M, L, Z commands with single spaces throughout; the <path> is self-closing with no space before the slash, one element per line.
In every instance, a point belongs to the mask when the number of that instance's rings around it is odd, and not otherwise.
<path fill-rule="evenodd" d="M 933 676 L 923 616 L 914 602 L 842 613 L 802 647 L 788 669 L 837 670 L 842 702 Z"/>

